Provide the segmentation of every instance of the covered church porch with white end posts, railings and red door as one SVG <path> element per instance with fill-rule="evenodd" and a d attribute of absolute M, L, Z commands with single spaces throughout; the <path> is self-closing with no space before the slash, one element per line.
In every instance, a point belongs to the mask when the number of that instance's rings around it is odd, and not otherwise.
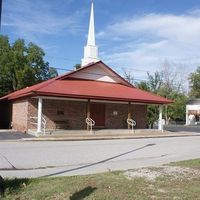
<path fill-rule="evenodd" d="M 82 130 L 129 130 L 147 128 L 147 104 L 131 101 L 72 99 L 38 96 L 30 98 L 28 132 L 35 135 Z M 159 106 L 158 130 L 163 131 Z M 73 131 L 74 132 L 74 131 Z"/>

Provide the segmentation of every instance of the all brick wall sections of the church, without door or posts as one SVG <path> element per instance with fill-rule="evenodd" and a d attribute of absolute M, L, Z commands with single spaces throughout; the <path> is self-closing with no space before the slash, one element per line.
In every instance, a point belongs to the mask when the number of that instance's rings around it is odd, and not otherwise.
<path fill-rule="evenodd" d="M 37 105 L 38 100 L 34 98 L 13 102 L 13 128 L 20 131 L 36 129 L 31 117 L 37 117 Z M 86 108 L 87 102 L 44 99 L 42 113 L 47 121 L 46 129 L 86 129 Z M 136 128 L 146 128 L 147 106 L 131 105 L 131 111 L 132 118 L 137 122 Z M 105 128 L 127 128 L 127 116 L 128 103 L 105 103 Z M 62 127 L 62 123 L 66 127 Z"/>

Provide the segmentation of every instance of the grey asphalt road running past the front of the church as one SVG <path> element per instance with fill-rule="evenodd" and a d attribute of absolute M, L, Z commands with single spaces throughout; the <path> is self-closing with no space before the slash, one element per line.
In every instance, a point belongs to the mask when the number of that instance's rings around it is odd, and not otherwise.
<path fill-rule="evenodd" d="M 68 176 L 200 158 L 200 136 L 100 141 L 0 142 L 3 177 Z"/>

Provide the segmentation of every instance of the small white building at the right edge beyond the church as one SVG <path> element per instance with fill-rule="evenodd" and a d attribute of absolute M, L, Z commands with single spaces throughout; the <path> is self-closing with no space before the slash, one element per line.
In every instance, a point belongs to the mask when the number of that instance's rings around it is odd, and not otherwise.
<path fill-rule="evenodd" d="M 186 125 L 200 124 L 200 99 L 188 101 L 186 105 Z"/>

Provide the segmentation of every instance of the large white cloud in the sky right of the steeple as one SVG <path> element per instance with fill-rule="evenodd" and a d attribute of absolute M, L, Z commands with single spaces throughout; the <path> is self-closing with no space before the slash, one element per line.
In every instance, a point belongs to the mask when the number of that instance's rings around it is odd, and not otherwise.
<path fill-rule="evenodd" d="M 103 59 L 120 67 L 155 71 L 165 60 L 188 71 L 200 64 L 200 10 L 184 15 L 151 13 L 109 25 L 98 34 Z M 116 40 L 115 38 L 118 38 Z M 107 44 L 113 48 L 107 48 Z"/>

